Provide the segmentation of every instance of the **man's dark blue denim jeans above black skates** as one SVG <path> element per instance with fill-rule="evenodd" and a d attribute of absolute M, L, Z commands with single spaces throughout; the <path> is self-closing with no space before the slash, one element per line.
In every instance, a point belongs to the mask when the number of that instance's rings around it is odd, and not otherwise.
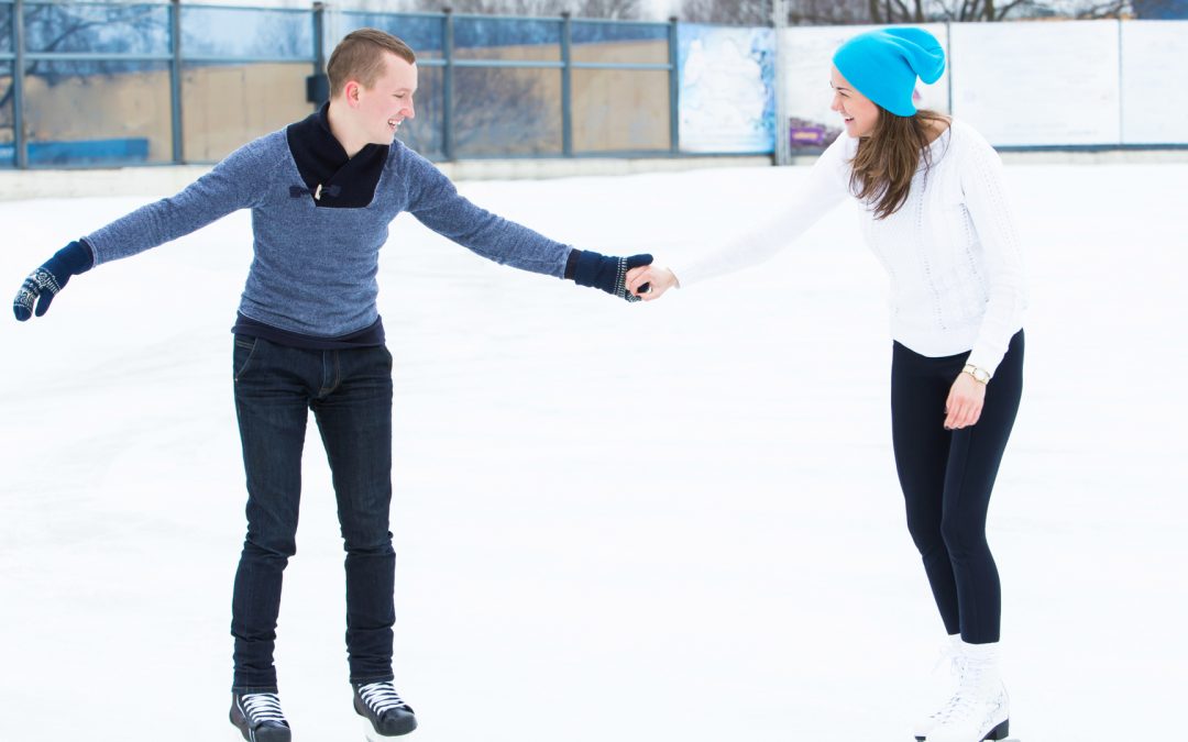
<path fill-rule="evenodd" d="M 347 552 L 352 683 L 392 679 L 392 356 L 383 345 L 305 350 L 235 336 L 235 411 L 247 473 L 247 539 L 235 573 L 235 692 L 276 692 L 282 573 L 297 552 L 301 458 L 314 411 Z"/>

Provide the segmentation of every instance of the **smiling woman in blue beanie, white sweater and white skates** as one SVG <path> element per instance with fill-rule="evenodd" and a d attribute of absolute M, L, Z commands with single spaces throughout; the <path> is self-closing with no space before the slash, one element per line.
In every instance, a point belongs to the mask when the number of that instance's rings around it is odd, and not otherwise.
<path fill-rule="evenodd" d="M 847 137 L 767 227 L 676 271 L 628 273 L 655 300 L 672 286 L 770 258 L 847 196 L 891 279 L 891 417 L 908 528 L 944 622 L 958 689 L 917 740 L 1007 734 L 998 672 L 1000 589 L 986 510 L 1022 391 L 1025 291 L 1016 222 L 994 150 L 963 122 L 916 110 L 916 77 L 944 69 L 918 28 L 862 33 L 834 55 L 832 109 Z M 680 279 L 680 284 L 677 283 Z"/>

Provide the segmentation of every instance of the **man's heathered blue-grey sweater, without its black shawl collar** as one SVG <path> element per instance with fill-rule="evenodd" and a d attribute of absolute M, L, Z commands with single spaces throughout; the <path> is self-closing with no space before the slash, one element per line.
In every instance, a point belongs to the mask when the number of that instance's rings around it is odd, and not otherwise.
<path fill-rule="evenodd" d="M 434 232 L 503 265 L 564 277 L 573 248 L 475 207 L 426 159 L 393 141 L 365 208 L 320 208 L 304 190 L 285 132 L 252 141 L 181 194 L 84 237 L 95 265 L 252 210 L 254 259 L 239 311 L 289 332 L 337 337 L 378 318 L 379 249 L 409 211 Z"/>

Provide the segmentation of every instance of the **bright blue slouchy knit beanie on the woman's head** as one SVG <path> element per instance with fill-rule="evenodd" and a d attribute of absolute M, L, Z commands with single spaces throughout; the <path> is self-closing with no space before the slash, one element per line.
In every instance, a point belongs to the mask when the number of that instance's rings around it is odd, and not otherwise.
<path fill-rule="evenodd" d="M 867 31 L 842 44 L 833 65 L 854 88 L 897 116 L 916 115 L 918 76 L 933 84 L 944 71 L 944 50 L 922 28 Z"/>

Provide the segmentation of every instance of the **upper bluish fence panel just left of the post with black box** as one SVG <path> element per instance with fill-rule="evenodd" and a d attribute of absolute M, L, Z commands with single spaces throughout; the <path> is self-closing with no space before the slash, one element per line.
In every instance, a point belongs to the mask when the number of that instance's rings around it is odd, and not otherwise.
<path fill-rule="evenodd" d="M 182 6 L 187 59 L 312 61 L 314 15 L 307 11 Z"/>

